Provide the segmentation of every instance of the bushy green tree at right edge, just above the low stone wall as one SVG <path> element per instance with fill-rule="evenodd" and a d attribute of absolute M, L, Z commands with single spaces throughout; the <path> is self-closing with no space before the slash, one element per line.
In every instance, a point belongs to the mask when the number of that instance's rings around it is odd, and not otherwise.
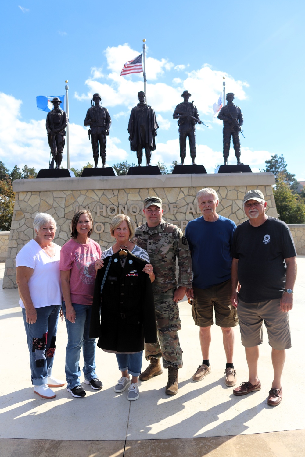
<path fill-rule="evenodd" d="M 277 186 L 273 192 L 279 218 L 286 224 L 303 224 L 305 203 L 294 194 L 285 178 L 284 173 L 278 174 Z"/>

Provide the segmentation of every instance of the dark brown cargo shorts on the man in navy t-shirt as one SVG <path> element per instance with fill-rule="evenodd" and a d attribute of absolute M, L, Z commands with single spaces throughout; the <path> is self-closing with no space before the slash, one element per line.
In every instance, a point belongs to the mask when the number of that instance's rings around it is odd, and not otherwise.
<path fill-rule="evenodd" d="M 215 284 L 208 289 L 194 287 L 192 315 L 196 325 L 209 327 L 214 324 L 213 307 L 216 325 L 235 327 L 238 325 L 236 309 L 231 305 L 231 280 Z"/>

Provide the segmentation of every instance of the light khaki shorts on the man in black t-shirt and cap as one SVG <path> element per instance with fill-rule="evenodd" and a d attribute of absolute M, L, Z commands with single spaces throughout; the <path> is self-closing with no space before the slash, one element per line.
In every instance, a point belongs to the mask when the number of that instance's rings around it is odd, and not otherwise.
<path fill-rule="evenodd" d="M 282 351 L 291 347 L 289 315 L 280 308 L 280 298 L 267 302 L 245 303 L 238 299 L 241 344 L 254 347 L 262 344 L 262 321 L 267 329 L 269 345 Z"/>

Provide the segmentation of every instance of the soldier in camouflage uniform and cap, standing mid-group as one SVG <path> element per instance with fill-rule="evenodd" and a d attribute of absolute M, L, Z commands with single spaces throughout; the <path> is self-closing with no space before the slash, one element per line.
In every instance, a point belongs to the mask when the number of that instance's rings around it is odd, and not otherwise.
<path fill-rule="evenodd" d="M 145 249 L 154 267 L 153 291 L 159 343 L 145 344 L 145 357 L 150 365 L 139 378 L 146 381 L 162 374 L 168 368 L 166 393 L 178 392 L 178 368 L 182 367 L 182 349 L 177 331 L 181 329 L 177 302 L 182 300 L 187 287 L 192 287 L 191 256 L 187 239 L 176 225 L 162 219 L 162 201 L 159 197 L 144 200 L 147 223 L 136 229 L 134 242 Z M 176 281 L 176 258 L 179 278 Z"/>

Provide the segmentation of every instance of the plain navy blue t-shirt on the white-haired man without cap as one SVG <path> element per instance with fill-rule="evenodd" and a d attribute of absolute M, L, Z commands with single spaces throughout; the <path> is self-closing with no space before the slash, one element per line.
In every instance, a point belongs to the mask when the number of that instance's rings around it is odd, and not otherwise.
<path fill-rule="evenodd" d="M 201 216 L 187 224 L 185 237 L 192 251 L 193 287 L 207 289 L 230 279 L 235 228 L 235 223 L 223 216 L 215 222 L 207 222 Z"/>

